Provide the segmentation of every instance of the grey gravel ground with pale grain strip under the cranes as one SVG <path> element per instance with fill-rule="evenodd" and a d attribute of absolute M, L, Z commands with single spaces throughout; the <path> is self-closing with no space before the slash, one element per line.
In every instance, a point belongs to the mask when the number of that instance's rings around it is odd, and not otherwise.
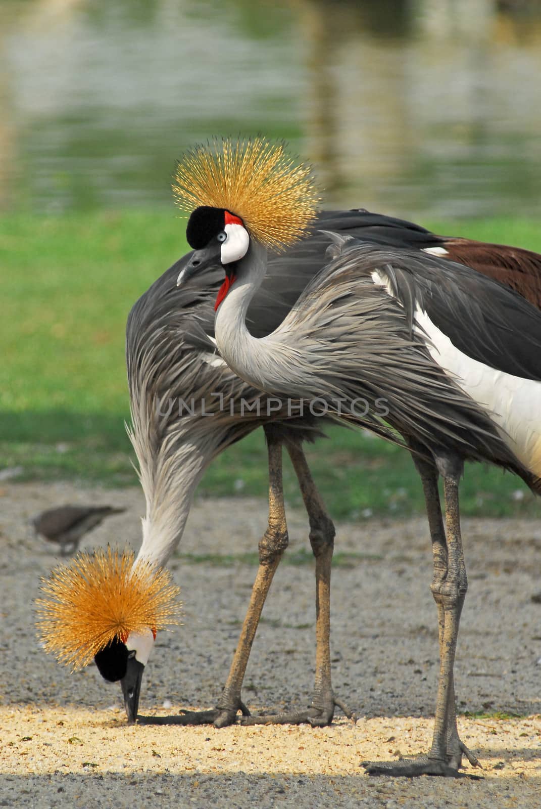
<path fill-rule="evenodd" d="M 32 600 L 55 548 L 28 519 L 62 503 L 126 506 L 86 546 L 140 541 L 138 489 L 73 485 L 0 489 L 0 807 L 541 807 L 541 527 L 467 519 L 470 578 L 456 686 L 459 729 L 483 763 L 482 781 L 375 779 L 360 762 L 426 750 L 437 676 L 431 556 L 422 519 L 337 526 L 336 551 L 356 554 L 333 574 L 332 675 L 357 712 L 328 728 L 125 725 L 120 687 L 95 667 L 70 674 L 36 643 Z M 256 549 L 263 501 L 197 502 L 181 544 L 189 554 Z M 306 547 L 306 519 L 291 511 L 290 548 Z M 83 544 L 84 545 L 84 544 Z M 211 707 L 235 649 L 256 568 L 173 559 L 184 625 L 158 635 L 142 687 L 142 714 Z M 314 676 L 311 565 L 282 565 L 248 664 L 252 712 L 301 708 Z M 518 714 L 500 719 L 497 712 Z M 492 714 L 492 715 L 491 715 Z M 467 770 L 468 772 L 468 770 Z M 471 772 L 471 770 L 469 770 Z M 477 771 L 479 772 L 479 771 Z"/>

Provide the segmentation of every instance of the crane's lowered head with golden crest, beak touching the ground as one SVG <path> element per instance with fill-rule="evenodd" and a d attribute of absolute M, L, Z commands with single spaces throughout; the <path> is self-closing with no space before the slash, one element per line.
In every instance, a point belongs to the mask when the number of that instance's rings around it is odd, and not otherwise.
<path fill-rule="evenodd" d="M 73 670 L 94 660 L 105 680 L 120 680 L 133 724 L 156 633 L 179 623 L 171 575 L 146 561 L 134 564 L 131 551 L 97 549 L 55 568 L 41 591 L 36 623 L 44 649 Z"/>

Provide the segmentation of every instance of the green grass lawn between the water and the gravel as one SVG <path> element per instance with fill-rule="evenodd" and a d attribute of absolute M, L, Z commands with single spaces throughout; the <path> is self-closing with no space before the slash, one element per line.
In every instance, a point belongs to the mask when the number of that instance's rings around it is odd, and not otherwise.
<path fill-rule="evenodd" d="M 541 252 L 537 222 L 423 224 Z M 186 249 L 184 222 L 172 210 L 0 218 L 0 458 L 2 467 L 22 468 L 17 480 L 137 484 L 124 428 L 125 321 Z M 333 427 L 328 435 L 308 455 L 334 516 L 421 513 L 408 453 L 353 430 Z M 267 484 L 259 430 L 213 463 L 200 492 L 265 496 Z M 285 493 L 301 505 L 289 462 Z M 462 503 L 466 515 L 541 515 L 518 478 L 480 465 L 467 469 Z"/>

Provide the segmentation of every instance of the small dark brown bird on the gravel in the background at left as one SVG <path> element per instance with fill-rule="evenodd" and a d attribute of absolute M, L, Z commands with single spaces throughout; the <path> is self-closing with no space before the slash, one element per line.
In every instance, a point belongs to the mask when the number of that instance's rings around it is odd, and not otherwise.
<path fill-rule="evenodd" d="M 34 517 L 36 533 L 50 542 L 60 544 L 60 555 L 70 556 L 78 549 L 84 534 L 111 514 L 121 514 L 125 508 L 112 506 L 58 506 Z"/>

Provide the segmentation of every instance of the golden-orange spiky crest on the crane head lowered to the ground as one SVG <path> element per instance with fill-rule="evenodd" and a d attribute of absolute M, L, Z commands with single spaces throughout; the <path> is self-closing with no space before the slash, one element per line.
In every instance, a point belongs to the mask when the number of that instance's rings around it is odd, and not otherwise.
<path fill-rule="evenodd" d="M 79 553 L 42 578 L 36 626 L 45 651 L 74 670 L 113 640 L 180 623 L 180 592 L 167 570 L 148 562 L 133 569 L 132 551 Z"/>

